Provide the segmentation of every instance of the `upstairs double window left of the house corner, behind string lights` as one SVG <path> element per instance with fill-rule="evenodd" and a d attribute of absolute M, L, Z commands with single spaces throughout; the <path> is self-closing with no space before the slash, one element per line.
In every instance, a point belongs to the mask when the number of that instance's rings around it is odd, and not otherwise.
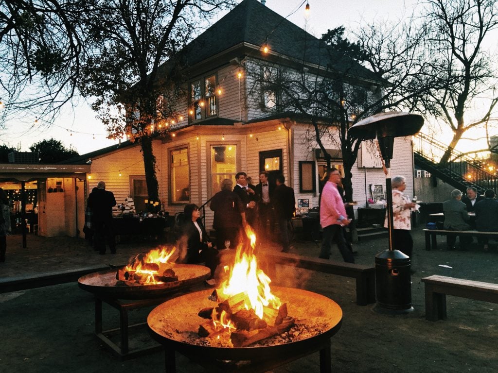
<path fill-rule="evenodd" d="M 218 115 L 216 75 L 210 75 L 190 84 L 190 120 L 200 120 Z"/>

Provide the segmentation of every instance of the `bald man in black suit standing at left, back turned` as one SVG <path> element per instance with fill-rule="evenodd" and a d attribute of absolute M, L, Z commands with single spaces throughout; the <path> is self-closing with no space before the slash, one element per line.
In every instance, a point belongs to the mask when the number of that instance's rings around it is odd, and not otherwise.
<path fill-rule="evenodd" d="M 95 227 L 95 248 L 101 255 L 106 254 L 106 238 L 112 254 L 116 254 L 116 241 L 113 230 L 113 206 L 116 198 L 106 190 L 106 183 L 99 182 L 97 190 L 88 196 L 88 206 L 92 209 L 92 226 Z"/>

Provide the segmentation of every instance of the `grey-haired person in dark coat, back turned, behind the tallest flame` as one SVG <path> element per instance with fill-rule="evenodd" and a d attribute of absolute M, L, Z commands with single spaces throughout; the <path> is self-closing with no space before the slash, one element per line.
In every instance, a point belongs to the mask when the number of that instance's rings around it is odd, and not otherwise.
<path fill-rule="evenodd" d="M 221 190 L 213 196 L 209 205 L 215 213 L 213 228 L 216 230 L 218 250 L 237 248 L 242 227 L 247 224 L 246 205 L 239 195 L 232 191 L 233 184 L 232 180 L 224 179 L 221 182 Z"/>

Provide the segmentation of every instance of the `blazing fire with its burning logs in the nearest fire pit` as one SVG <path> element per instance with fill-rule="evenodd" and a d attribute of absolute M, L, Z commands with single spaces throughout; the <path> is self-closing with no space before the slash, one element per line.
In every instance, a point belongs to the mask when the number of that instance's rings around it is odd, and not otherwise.
<path fill-rule="evenodd" d="M 271 293 L 269 277 L 257 267 L 256 237 L 249 226 L 246 234 L 250 244 L 239 245 L 228 280 L 210 297 L 218 305 L 199 311 L 208 319 L 200 324 L 199 336 L 230 339 L 234 347 L 284 333 L 295 323 L 287 315 L 287 305 Z"/>

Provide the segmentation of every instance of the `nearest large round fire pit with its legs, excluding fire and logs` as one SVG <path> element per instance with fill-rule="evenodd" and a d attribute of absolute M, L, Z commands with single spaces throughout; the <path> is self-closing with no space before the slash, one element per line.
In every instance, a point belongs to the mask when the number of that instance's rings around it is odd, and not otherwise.
<path fill-rule="evenodd" d="M 320 351 L 320 371 L 330 372 L 330 337 L 337 333 L 342 322 L 339 305 L 306 290 L 272 287 L 272 291 L 287 303 L 295 326 L 284 335 L 243 348 L 212 346 L 198 336 L 202 319 L 197 313 L 213 306 L 213 301 L 208 299 L 212 290 L 181 295 L 154 308 L 147 317 L 147 324 L 153 338 L 166 348 L 166 372 L 175 372 L 175 351 L 204 367 L 227 364 L 227 361 L 250 361 L 250 372 L 258 372 L 258 369 L 264 372 Z"/>

